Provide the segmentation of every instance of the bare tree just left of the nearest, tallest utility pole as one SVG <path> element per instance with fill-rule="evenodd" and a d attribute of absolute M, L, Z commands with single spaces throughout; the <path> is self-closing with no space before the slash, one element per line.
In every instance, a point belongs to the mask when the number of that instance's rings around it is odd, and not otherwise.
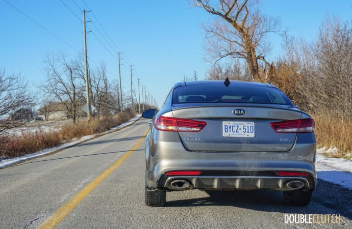
<path fill-rule="evenodd" d="M 42 87 L 43 92 L 53 95 L 63 103 L 73 123 L 76 123 L 84 104 L 84 90 L 80 87 L 78 73 L 74 71 L 74 62 L 68 61 L 62 52 L 48 54 L 45 60 L 45 73 L 47 79 Z"/>

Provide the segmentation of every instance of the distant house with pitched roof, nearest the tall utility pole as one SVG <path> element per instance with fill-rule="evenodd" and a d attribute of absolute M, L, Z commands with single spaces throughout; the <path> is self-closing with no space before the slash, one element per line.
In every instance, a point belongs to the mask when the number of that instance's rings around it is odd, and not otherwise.
<path fill-rule="evenodd" d="M 39 115 L 43 116 L 45 120 L 68 119 L 67 108 L 62 102 L 49 102 L 38 110 Z"/>

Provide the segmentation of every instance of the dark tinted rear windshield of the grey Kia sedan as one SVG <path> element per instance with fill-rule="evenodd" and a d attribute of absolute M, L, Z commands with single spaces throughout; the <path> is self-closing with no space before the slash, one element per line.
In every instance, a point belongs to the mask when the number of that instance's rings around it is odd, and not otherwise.
<path fill-rule="evenodd" d="M 276 88 L 260 85 L 198 84 L 179 87 L 173 91 L 173 104 L 179 103 L 267 103 L 292 105 L 285 94 Z"/>

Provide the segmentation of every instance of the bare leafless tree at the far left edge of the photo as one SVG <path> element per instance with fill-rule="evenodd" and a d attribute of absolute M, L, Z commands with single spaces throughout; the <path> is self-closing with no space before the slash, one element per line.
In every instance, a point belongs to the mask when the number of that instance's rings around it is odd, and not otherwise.
<path fill-rule="evenodd" d="M 19 74 L 8 75 L 5 69 L 0 69 L 0 136 L 24 123 L 24 120 L 11 118 L 11 115 L 19 109 L 32 109 L 34 105 L 28 82 L 24 82 Z"/>

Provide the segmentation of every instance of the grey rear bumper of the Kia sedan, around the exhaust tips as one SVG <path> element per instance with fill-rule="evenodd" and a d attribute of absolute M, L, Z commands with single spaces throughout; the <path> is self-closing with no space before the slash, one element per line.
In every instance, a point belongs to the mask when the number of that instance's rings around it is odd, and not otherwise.
<path fill-rule="evenodd" d="M 149 188 L 172 190 L 293 190 L 286 184 L 298 181 L 305 189 L 314 189 L 315 143 L 295 144 L 288 152 L 189 152 L 177 142 L 159 142 L 153 152 L 146 148 L 146 183 Z M 166 176 L 169 171 L 201 171 L 199 176 Z M 305 177 L 280 177 L 278 171 L 303 172 Z M 171 183 L 185 180 L 190 185 L 177 189 Z"/>

